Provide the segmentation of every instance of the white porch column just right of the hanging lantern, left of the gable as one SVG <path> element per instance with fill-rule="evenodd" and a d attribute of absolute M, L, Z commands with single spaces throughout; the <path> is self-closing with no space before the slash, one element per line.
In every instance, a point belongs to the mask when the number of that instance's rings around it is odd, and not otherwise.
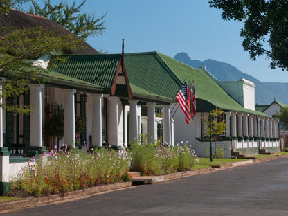
<path fill-rule="evenodd" d="M 102 146 L 102 94 L 93 94 L 92 145 Z"/>

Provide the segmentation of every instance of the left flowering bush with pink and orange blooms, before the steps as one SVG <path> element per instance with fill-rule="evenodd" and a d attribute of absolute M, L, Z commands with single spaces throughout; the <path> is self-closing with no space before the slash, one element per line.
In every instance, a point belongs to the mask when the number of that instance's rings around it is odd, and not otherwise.
<path fill-rule="evenodd" d="M 56 146 L 55 146 L 56 147 Z M 87 154 L 75 149 L 61 148 L 38 156 L 35 165 L 23 168 L 14 190 L 24 190 L 39 196 L 79 190 L 102 183 L 122 181 L 129 171 L 130 157 L 125 150 L 96 150 Z"/>

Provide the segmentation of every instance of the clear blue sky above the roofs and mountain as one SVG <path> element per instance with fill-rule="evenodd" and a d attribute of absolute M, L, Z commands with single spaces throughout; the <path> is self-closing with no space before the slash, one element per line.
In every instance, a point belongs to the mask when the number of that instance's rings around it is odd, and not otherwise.
<path fill-rule="evenodd" d="M 87 0 L 84 11 L 96 17 L 107 12 L 105 33 L 87 39 L 96 50 L 120 53 L 124 38 L 125 53 L 186 52 L 192 60 L 226 62 L 262 82 L 288 82 L 288 71 L 269 69 L 265 57 L 250 60 L 239 37 L 243 24 L 222 20 L 208 0 Z"/>

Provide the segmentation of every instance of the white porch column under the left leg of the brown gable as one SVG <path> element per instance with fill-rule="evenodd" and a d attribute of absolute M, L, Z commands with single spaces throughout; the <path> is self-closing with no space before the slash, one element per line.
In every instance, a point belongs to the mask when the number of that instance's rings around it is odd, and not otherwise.
<path fill-rule="evenodd" d="M 118 146 L 118 97 L 109 97 L 108 143 Z"/>

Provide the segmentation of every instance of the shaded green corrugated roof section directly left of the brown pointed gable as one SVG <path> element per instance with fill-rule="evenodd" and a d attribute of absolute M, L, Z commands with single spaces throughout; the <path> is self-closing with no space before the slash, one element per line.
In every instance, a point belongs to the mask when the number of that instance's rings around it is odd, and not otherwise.
<path fill-rule="evenodd" d="M 101 87 L 111 87 L 120 60 L 120 54 L 62 56 L 68 59 L 53 62 L 53 71 Z"/>

